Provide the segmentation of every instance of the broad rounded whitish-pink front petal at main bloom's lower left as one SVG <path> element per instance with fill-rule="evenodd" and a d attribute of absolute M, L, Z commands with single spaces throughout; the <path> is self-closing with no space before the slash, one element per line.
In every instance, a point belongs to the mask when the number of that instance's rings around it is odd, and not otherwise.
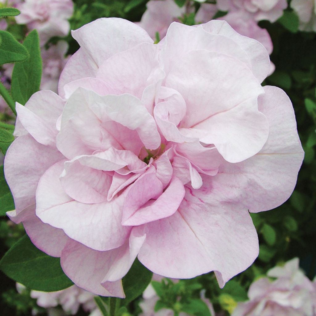
<path fill-rule="evenodd" d="M 77 202 L 61 186 L 59 176 L 63 169 L 64 162 L 61 161 L 41 177 L 36 191 L 36 215 L 43 222 L 63 229 L 70 238 L 95 250 L 121 246 L 130 232 L 130 228 L 121 225 L 125 194 L 111 202 Z"/>

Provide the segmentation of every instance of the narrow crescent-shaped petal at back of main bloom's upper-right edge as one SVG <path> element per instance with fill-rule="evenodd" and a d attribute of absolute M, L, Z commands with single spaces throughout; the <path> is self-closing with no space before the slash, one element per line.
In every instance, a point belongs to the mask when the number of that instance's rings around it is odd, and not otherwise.
<path fill-rule="evenodd" d="M 240 35 L 225 21 L 213 20 L 202 24 L 202 27 L 211 34 L 219 34 L 235 41 L 247 53 L 252 72 L 258 81 L 262 82 L 266 78 L 269 73 L 270 59 L 268 52 L 261 43 Z"/>

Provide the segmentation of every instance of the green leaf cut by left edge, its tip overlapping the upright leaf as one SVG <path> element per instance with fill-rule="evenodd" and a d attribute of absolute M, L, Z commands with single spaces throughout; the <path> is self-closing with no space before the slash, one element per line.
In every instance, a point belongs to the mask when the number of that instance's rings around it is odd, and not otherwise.
<path fill-rule="evenodd" d="M 22 61 L 29 57 L 27 49 L 6 31 L 0 30 L 0 65 Z"/>

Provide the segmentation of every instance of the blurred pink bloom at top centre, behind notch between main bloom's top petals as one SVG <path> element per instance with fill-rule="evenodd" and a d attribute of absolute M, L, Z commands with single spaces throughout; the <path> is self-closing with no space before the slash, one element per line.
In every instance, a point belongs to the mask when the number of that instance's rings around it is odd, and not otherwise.
<path fill-rule="evenodd" d="M 150 0 L 146 7 L 141 21 L 137 24 L 143 27 L 152 39 L 156 38 L 156 32 L 162 39 L 169 25 L 178 21 L 178 18 L 185 13 L 185 6 L 179 8 L 174 0 Z"/>

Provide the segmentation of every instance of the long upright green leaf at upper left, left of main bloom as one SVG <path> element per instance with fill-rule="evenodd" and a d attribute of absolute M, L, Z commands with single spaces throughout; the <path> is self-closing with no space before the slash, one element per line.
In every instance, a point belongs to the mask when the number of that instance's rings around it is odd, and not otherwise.
<path fill-rule="evenodd" d="M 42 76 L 42 59 L 40 56 L 40 42 L 36 30 L 30 32 L 23 45 L 30 57 L 14 65 L 11 82 L 12 97 L 24 105 L 30 96 L 40 89 Z"/>

